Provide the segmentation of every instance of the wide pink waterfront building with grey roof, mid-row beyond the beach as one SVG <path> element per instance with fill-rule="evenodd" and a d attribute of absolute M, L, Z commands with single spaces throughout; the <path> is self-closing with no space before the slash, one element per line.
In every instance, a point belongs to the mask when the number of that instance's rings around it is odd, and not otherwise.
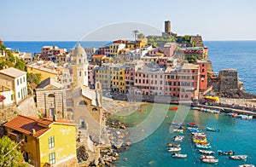
<path fill-rule="evenodd" d="M 164 95 L 164 69 L 159 66 L 143 66 L 135 72 L 135 86 L 141 95 Z"/>

